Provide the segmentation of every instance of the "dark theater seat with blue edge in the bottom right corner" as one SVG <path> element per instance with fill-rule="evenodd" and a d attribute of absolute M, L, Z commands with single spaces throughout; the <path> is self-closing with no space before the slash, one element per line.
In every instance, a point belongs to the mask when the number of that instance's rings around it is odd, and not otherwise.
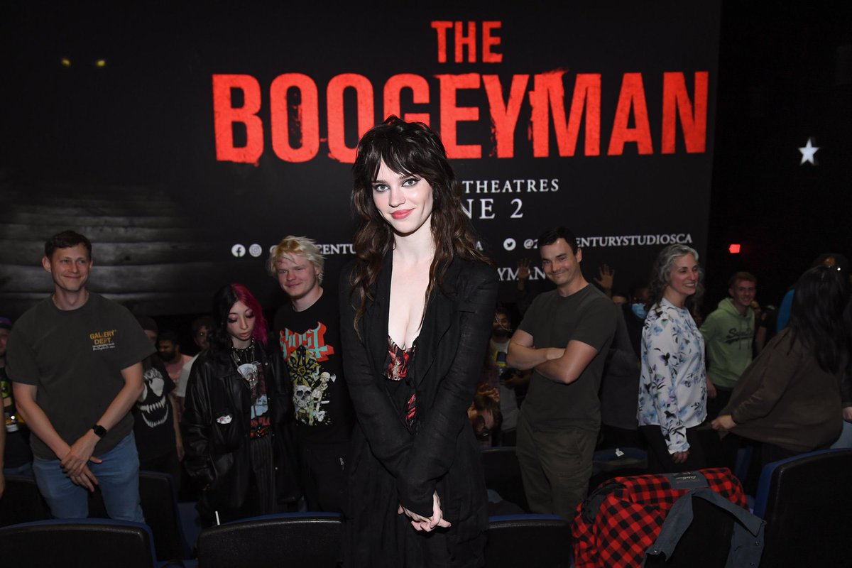
<path fill-rule="evenodd" d="M 766 520 L 762 566 L 852 565 L 852 450 L 763 467 L 754 513 Z"/>

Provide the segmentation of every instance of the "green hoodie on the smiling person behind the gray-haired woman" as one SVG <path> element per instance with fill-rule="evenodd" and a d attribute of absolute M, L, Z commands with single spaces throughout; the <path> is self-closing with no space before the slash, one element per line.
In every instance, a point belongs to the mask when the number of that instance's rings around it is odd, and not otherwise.
<path fill-rule="evenodd" d="M 709 363 L 709 376 L 717 387 L 734 388 L 751 363 L 754 340 L 754 312 L 751 307 L 740 315 L 731 298 L 719 302 L 717 310 L 701 325 L 701 335 Z"/>

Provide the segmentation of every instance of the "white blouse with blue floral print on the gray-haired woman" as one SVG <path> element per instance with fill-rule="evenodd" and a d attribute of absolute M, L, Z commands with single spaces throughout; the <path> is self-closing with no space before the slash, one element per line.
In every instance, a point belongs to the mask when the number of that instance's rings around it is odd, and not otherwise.
<path fill-rule="evenodd" d="M 669 453 L 689 449 L 686 429 L 707 416 L 704 339 L 688 310 L 665 298 L 642 329 L 639 426 L 659 426 Z"/>

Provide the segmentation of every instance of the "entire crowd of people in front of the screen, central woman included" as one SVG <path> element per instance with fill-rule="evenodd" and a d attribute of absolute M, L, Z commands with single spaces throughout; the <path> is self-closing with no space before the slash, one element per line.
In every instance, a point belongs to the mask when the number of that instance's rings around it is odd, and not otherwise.
<path fill-rule="evenodd" d="M 489 497 L 479 451 L 511 445 L 529 509 L 573 518 L 602 447 L 641 447 L 648 472 L 757 466 L 843 444 L 849 262 L 820 255 L 778 321 L 735 273 L 700 318 L 703 269 L 665 247 L 647 281 L 584 278 L 566 227 L 538 238 L 554 287 L 497 305 L 444 146 L 389 118 L 361 139 L 355 258 L 325 293 L 320 248 L 287 236 L 268 272 L 271 322 L 243 284 L 180 334 L 87 289 L 92 244 L 48 239 L 55 292 L 0 318 L 3 473 L 32 474 L 57 518 L 143 521 L 140 469 L 170 473 L 204 525 L 282 511 L 345 519 L 346 565 L 482 565 Z M 629 288 L 629 289 L 628 289 Z M 789 322 L 786 321 L 789 314 Z M 847 427 L 848 428 L 848 427 Z M 748 483 L 748 482 L 746 482 Z"/>

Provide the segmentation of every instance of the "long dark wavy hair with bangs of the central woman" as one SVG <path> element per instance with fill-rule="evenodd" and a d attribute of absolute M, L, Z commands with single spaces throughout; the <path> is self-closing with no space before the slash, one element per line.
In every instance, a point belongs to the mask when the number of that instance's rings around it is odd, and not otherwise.
<path fill-rule="evenodd" d="M 352 294 L 357 293 L 359 299 L 354 319 L 356 330 L 367 301 L 374 299 L 371 289 L 382 269 L 382 260 L 394 246 L 393 227 L 379 215 L 372 198 L 373 182 L 382 162 L 397 174 L 419 175 L 432 186 L 435 258 L 429 267 L 427 301 L 435 285 L 443 287 L 452 258 L 490 263 L 476 248 L 473 227 L 462 211 L 461 186 L 440 138 L 423 123 L 406 123 L 392 115 L 361 138 L 352 166 L 352 208 L 360 221 L 353 239 L 357 261 L 349 277 Z"/>

